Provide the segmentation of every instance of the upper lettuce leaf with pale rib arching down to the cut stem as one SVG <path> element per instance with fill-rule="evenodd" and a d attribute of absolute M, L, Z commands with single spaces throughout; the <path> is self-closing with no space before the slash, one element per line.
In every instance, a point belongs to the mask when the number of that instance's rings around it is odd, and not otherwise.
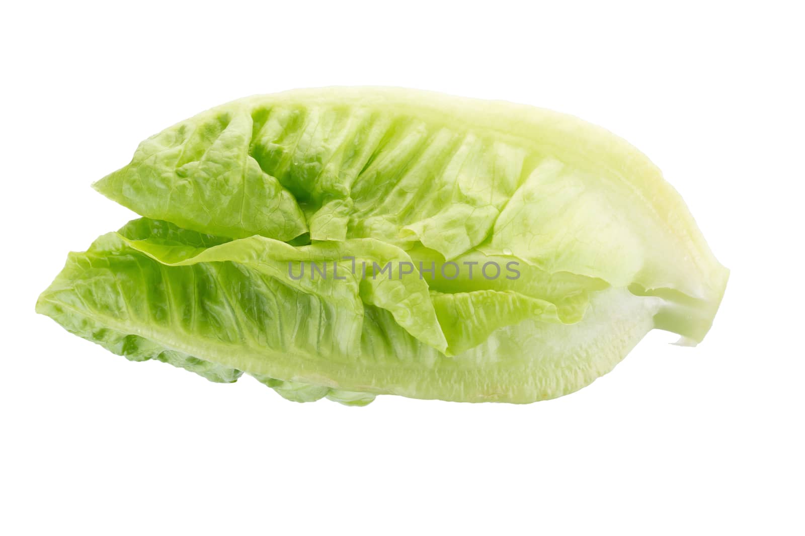
<path fill-rule="evenodd" d="M 510 252 L 550 273 L 679 291 L 702 312 L 663 325 L 694 340 L 729 274 L 645 155 L 579 119 L 506 102 L 388 88 L 247 97 L 142 142 L 94 186 L 202 233 L 370 237 L 446 259 Z"/>

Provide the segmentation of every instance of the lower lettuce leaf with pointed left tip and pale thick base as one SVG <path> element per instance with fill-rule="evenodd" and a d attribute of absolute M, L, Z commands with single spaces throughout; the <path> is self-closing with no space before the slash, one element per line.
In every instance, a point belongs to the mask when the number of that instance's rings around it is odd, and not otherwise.
<path fill-rule="evenodd" d="M 436 303 L 437 312 L 448 311 L 435 325 L 456 341 L 451 356 L 401 324 L 389 304 L 374 300 L 353 308 L 360 285 L 333 285 L 326 278 L 302 285 L 272 266 L 277 258 L 312 257 L 311 246 L 265 237 L 218 241 L 161 221 L 134 221 L 85 253 L 71 254 L 37 310 L 136 361 L 155 358 L 195 372 L 209 368 L 215 373 L 203 375 L 217 381 L 246 372 L 291 400 L 327 396 L 361 405 L 374 394 L 507 402 L 559 396 L 611 369 L 653 326 L 662 305 L 625 289 L 598 291 L 584 319 L 568 325 L 545 314 L 547 301 L 507 291 L 429 291 L 429 310 Z M 209 247 L 197 252 L 204 242 Z M 171 250 L 171 262 L 160 262 L 155 251 L 167 244 L 194 255 L 178 260 Z M 497 301 L 498 295 L 505 299 Z M 452 314 L 455 307 L 485 299 L 497 315 L 441 324 L 460 318 Z M 478 335 L 481 328 L 485 336 Z M 174 355 L 196 369 L 167 359 Z"/>

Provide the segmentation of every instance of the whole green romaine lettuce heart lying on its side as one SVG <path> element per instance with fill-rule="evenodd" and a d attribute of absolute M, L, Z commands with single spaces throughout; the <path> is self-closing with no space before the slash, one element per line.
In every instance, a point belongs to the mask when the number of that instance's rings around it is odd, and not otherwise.
<path fill-rule="evenodd" d="M 297 402 L 555 398 L 652 328 L 702 340 L 729 276 L 638 150 L 504 102 L 247 97 L 94 188 L 143 217 L 70 254 L 37 311 Z"/>

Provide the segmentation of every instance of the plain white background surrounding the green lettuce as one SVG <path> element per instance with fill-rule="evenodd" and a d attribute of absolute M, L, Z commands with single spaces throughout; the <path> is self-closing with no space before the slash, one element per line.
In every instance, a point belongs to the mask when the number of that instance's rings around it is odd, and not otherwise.
<path fill-rule="evenodd" d="M 795 2 L 13 2 L 2 8 L 2 534 L 803 534 L 803 18 Z M 89 184 L 252 93 L 401 85 L 630 140 L 732 270 L 697 348 L 652 332 L 530 406 L 286 402 L 34 314 L 134 217 Z"/>

